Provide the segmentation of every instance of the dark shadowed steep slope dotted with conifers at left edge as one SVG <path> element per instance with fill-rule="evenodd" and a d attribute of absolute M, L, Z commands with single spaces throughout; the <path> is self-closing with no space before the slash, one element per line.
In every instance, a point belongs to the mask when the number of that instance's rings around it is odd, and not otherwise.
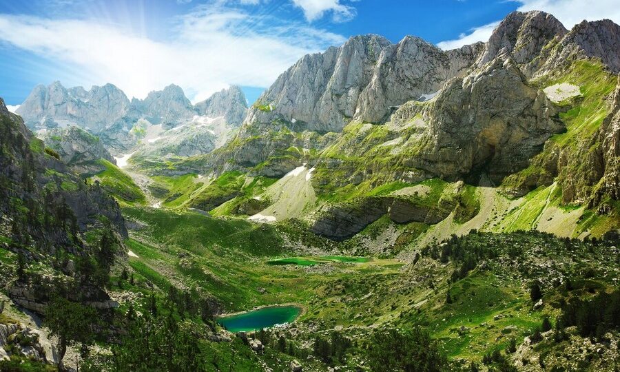
<path fill-rule="evenodd" d="M 71 247 L 72 236 L 110 221 L 127 236 L 118 204 L 98 186 L 87 186 L 67 166 L 45 151 L 21 118 L 0 99 L 0 214 L 3 234 L 41 249 Z"/>

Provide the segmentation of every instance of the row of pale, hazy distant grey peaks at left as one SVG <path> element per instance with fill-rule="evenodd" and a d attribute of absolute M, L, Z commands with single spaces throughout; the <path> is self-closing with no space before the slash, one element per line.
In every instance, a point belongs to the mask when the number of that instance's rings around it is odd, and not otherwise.
<path fill-rule="evenodd" d="M 150 124 L 171 128 L 192 121 L 197 115 L 222 116 L 229 125 L 227 130 L 184 130 L 180 132 L 183 136 L 168 143 L 165 149 L 154 148 L 152 153 L 156 156 L 168 152 L 177 156 L 210 152 L 223 145 L 232 128 L 240 125 L 246 111 L 245 96 L 236 86 L 218 92 L 194 107 L 177 85 L 150 92 L 143 101 L 133 99 L 130 102 L 111 84 L 94 86 L 86 91 L 83 87 L 66 89 L 59 82 L 48 87 L 37 85 L 19 107 L 19 114 L 32 130 L 80 127 L 99 136 L 103 145 L 114 154 L 126 153 L 138 144 L 140 136 L 132 128 L 143 118 Z"/>

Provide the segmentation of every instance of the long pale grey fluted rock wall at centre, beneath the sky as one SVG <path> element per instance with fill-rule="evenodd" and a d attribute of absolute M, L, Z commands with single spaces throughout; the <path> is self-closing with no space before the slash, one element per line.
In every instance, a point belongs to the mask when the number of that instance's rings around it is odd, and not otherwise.
<path fill-rule="evenodd" d="M 377 35 L 309 54 L 278 77 L 249 110 L 246 123 L 282 119 L 295 130 L 340 132 L 351 119 L 377 123 L 470 66 L 482 44 L 451 52 L 416 37 L 393 45 Z"/>

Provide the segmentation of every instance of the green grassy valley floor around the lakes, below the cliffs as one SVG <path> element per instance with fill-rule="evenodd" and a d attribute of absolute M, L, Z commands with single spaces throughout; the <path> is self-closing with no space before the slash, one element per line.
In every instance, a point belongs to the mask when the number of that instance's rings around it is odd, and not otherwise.
<path fill-rule="evenodd" d="M 599 288 L 609 288 L 614 278 L 614 251 L 586 249 L 581 242 L 566 247 L 539 233 L 468 236 L 469 244 L 493 247 L 500 258 L 450 284 L 448 278 L 458 264 L 442 263 L 428 253 L 409 265 L 378 258 L 301 265 L 323 259 L 316 256 L 300 258 L 304 260 L 297 262 L 300 265 L 269 265 L 273 258 L 302 257 L 280 240 L 278 227 L 166 210 L 126 207 L 124 211 L 149 226 L 132 232 L 127 242 L 139 256 L 130 258 L 138 280 L 148 279 L 158 287 L 167 286 L 168 280 L 200 287 L 219 298 L 226 311 L 301 304 L 307 311 L 298 320 L 297 327 L 303 330 L 298 342 L 335 327 L 363 338 L 369 329 L 386 324 L 422 324 L 442 340 L 451 358 L 480 360 L 495 347 L 504 348 L 510 338 L 520 343 L 540 324 L 541 316 L 558 315 L 553 306 L 532 311 L 530 280 L 541 280 L 544 301 L 552 303 L 566 296 L 561 287 L 552 287 L 552 280 L 579 278 L 588 267 L 600 273 L 594 279 Z M 451 304 L 446 304 L 446 291 L 453 298 Z"/>

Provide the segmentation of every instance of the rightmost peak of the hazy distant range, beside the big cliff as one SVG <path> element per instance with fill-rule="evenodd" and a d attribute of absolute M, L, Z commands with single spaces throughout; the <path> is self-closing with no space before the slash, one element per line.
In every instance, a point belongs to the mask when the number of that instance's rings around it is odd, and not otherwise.
<path fill-rule="evenodd" d="M 211 118 L 223 116 L 226 123 L 231 125 L 241 125 L 247 113 L 245 94 L 236 85 L 220 90 L 194 107 L 199 115 Z"/>

